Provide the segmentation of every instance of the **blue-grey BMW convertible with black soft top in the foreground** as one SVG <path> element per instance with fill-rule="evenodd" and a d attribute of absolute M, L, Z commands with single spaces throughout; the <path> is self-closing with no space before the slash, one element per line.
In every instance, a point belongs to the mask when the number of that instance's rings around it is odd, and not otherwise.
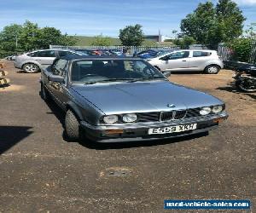
<path fill-rule="evenodd" d="M 223 101 L 168 75 L 142 59 L 70 55 L 43 70 L 41 95 L 66 113 L 71 140 L 172 138 L 207 132 L 228 118 Z"/>

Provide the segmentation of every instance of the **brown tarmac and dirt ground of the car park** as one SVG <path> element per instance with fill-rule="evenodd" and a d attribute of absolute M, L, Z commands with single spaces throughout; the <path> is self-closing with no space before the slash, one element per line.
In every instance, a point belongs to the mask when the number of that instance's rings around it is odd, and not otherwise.
<path fill-rule="evenodd" d="M 230 85 L 234 72 L 170 78 L 225 101 L 230 118 L 209 135 L 101 145 L 65 141 L 63 113 L 38 95 L 40 73 L 5 62 L 0 212 L 165 212 L 164 199 L 250 199 L 244 212 L 256 212 L 256 94 Z"/>

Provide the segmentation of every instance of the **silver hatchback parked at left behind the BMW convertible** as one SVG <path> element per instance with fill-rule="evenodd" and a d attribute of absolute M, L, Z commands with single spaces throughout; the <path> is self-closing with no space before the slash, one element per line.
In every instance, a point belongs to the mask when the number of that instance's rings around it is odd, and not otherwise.
<path fill-rule="evenodd" d="M 25 72 L 40 72 L 53 63 L 56 57 L 66 55 L 86 55 L 84 53 L 65 49 L 40 49 L 15 57 L 15 67 Z"/>

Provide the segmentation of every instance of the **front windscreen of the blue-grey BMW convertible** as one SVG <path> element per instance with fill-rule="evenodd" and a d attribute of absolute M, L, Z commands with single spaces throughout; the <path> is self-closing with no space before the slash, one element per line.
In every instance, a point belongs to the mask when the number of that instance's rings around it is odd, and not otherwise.
<path fill-rule="evenodd" d="M 77 60 L 73 61 L 73 83 L 108 83 L 113 81 L 166 80 L 144 60 Z"/>

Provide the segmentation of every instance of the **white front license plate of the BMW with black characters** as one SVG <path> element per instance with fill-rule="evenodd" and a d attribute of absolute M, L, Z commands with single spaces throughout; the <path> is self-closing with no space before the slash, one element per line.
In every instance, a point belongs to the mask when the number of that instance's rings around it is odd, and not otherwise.
<path fill-rule="evenodd" d="M 173 133 L 173 132 L 183 132 L 183 131 L 195 130 L 196 126 L 197 126 L 197 124 L 184 124 L 184 125 L 177 125 L 177 126 L 151 128 L 148 130 L 148 135 L 168 134 L 168 133 Z"/>

